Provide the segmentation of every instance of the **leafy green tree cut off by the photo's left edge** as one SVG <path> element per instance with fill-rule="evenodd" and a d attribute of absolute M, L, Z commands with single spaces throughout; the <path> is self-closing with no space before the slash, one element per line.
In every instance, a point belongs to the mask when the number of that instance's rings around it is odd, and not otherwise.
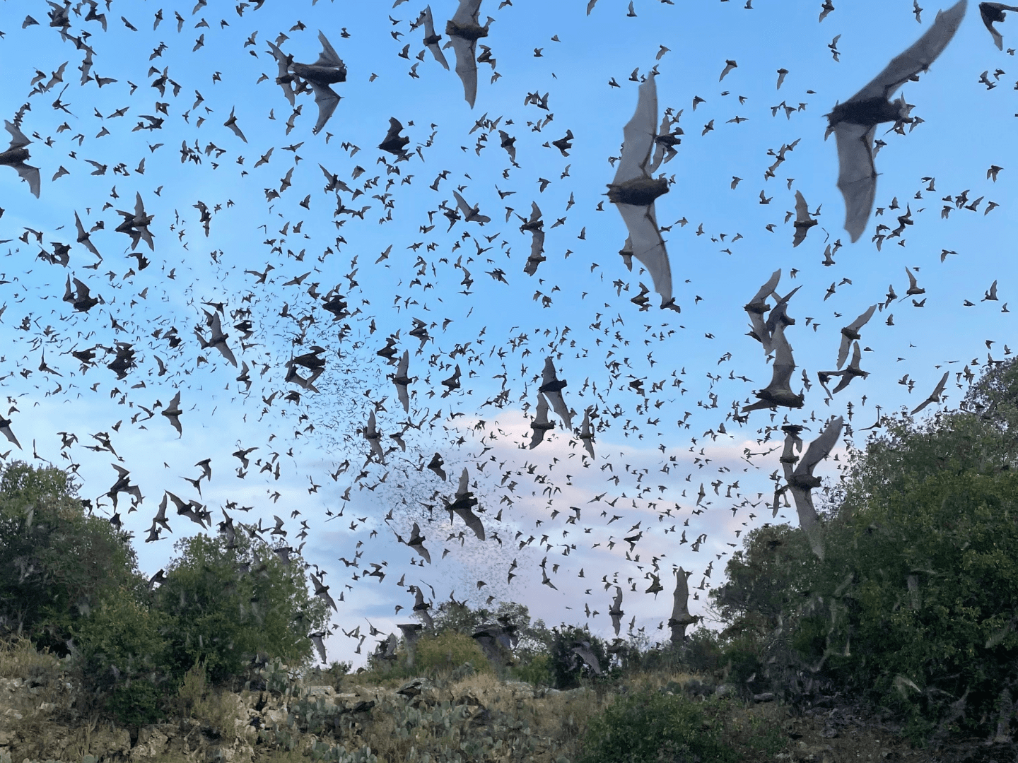
<path fill-rule="evenodd" d="M 130 536 L 86 513 L 55 467 L 0 473 L 0 626 L 66 654 L 70 624 L 109 591 L 145 588 Z"/>

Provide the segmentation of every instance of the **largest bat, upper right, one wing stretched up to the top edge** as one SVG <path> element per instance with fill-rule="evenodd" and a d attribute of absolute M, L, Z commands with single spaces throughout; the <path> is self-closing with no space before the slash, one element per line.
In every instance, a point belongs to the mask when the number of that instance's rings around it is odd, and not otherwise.
<path fill-rule="evenodd" d="M 852 241 L 865 230 L 876 193 L 873 135 L 882 122 L 912 121 L 904 98 L 890 97 L 909 79 L 924 72 L 951 42 L 965 15 L 967 0 L 959 0 L 937 19 L 904 53 L 893 58 L 862 90 L 828 114 L 828 133 L 838 143 L 838 188 L 845 197 L 845 230 Z"/>

